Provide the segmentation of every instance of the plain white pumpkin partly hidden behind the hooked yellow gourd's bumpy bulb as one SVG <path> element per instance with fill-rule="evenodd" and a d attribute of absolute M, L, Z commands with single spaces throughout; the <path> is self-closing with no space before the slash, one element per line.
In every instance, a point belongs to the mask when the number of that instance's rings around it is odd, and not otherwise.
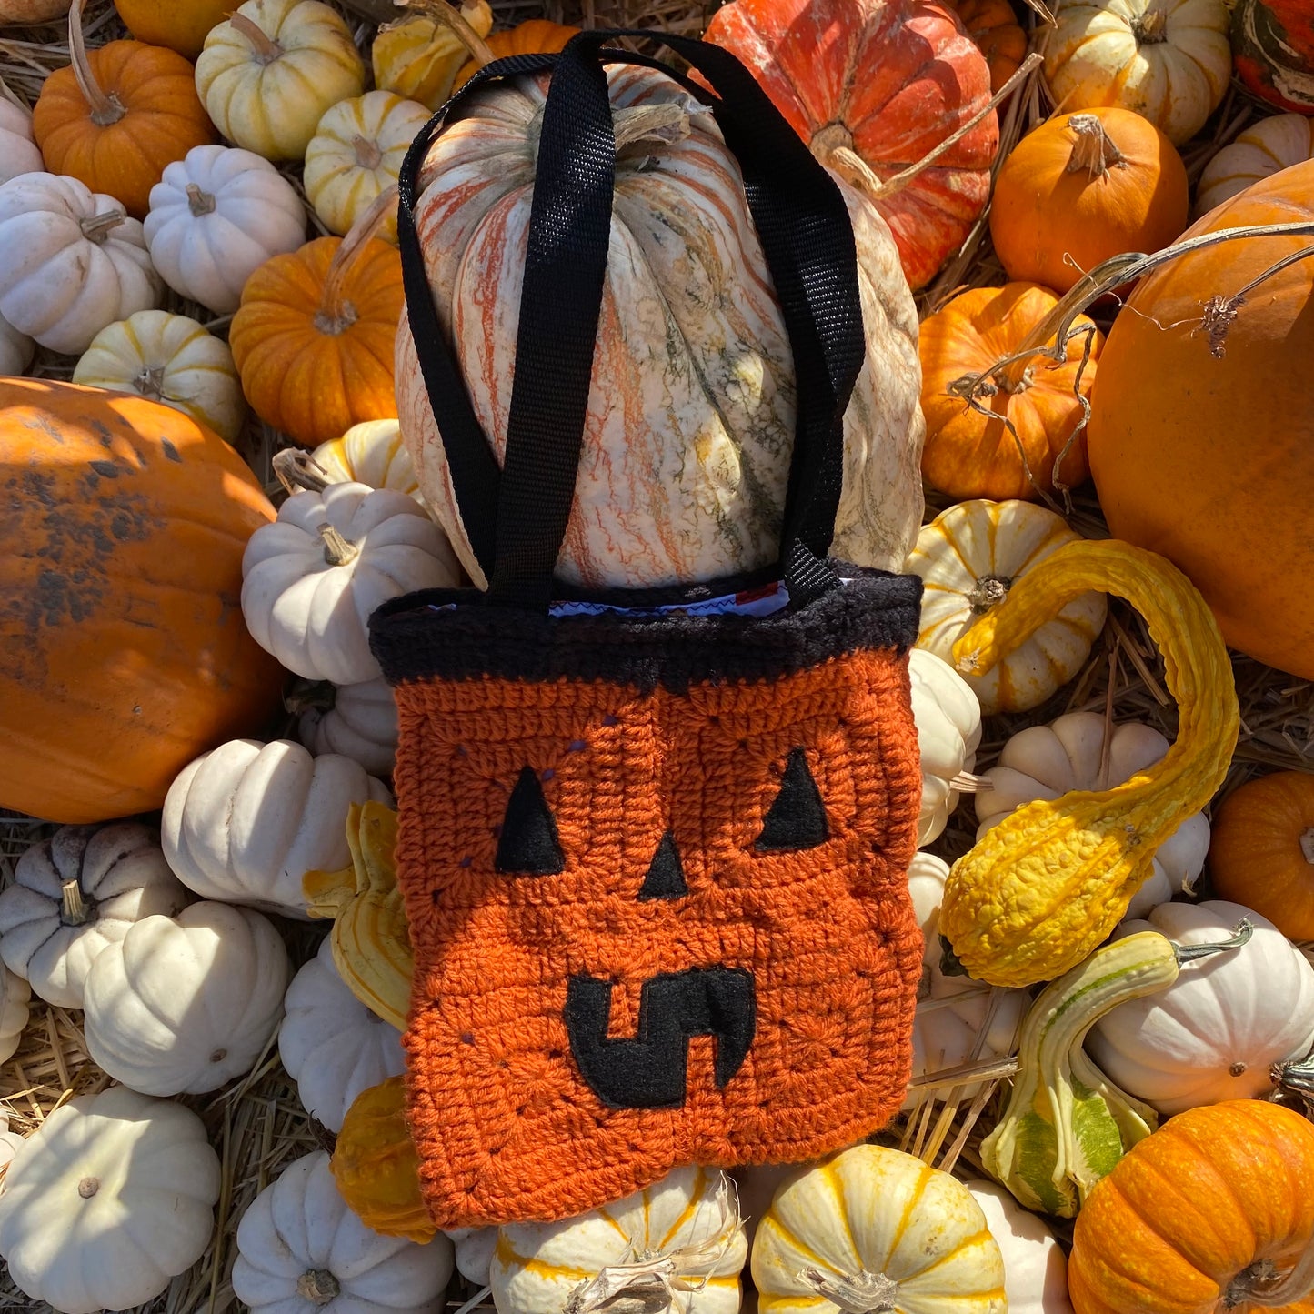
<path fill-rule="evenodd" d="M 989 788 L 976 792 L 980 838 L 1025 803 L 1054 800 L 1072 790 L 1106 790 L 1163 759 L 1168 741 L 1150 725 L 1126 721 L 1113 728 L 1104 759 L 1105 720 L 1097 712 L 1070 712 L 1049 725 L 1018 731 L 986 771 Z M 1143 917 L 1167 903 L 1175 891 L 1189 892 L 1209 853 L 1209 821 L 1204 813 L 1184 817 L 1159 846 L 1152 872 L 1133 896 L 1129 917 Z"/>

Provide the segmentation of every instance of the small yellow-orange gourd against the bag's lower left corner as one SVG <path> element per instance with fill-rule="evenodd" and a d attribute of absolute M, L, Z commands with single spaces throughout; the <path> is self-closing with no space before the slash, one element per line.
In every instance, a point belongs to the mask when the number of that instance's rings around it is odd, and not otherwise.
<path fill-rule="evenodd" d="M 331 1160 L 351 1212 L 385 1236 L 432 1239 L 438 1229 L 419 1189 L 419 1155 L 406 1123 L 406 1077 L 394 1076 L 352 1101 Z"/>

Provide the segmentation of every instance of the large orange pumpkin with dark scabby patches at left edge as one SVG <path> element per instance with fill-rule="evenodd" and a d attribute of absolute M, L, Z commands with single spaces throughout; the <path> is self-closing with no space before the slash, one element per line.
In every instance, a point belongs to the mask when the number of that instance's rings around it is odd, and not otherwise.
<path fill-rule="evenodd" d="M 259 733 L 280 671 L 242 622 L 255 476 L 180 411 L 0 380 L 0 807 L 104 821 Z"/>

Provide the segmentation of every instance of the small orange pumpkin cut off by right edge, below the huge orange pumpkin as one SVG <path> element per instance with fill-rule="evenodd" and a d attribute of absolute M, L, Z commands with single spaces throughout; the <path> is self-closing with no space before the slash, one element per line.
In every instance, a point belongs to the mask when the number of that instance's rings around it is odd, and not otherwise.
<path fill-rule="evenodd" d="M 1275 771 L 1230 794 L 1214 817 L 1209 872 L 1219 899 L 1314 940 L 1314 775 Z"/>

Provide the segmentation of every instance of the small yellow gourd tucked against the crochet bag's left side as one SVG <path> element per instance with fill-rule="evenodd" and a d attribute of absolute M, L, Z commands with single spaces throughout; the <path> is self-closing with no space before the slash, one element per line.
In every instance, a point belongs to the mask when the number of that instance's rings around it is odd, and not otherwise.
<path fill-rule="evenodd" d="M 382 803 L 353 803 L 347 844 L 350 867 L 307 871 L 302 878 L 306 912 L 334 918 L 338 975 L 371 1012 L 403 1031 L 415 958 L 397 888 L 397 813 Z"/>

